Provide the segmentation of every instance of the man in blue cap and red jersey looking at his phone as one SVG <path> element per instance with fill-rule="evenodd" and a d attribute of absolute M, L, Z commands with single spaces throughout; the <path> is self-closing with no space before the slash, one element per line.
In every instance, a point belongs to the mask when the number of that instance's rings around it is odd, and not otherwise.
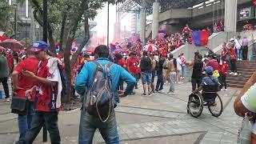
<path fill-rule="evenodd" d="M 34 139 L 45 123 L 46 129 L 50 133 L 50 142 L 59 144 L 61 138 L 58 130 L 58 111 L 61 108 L 62 80 L 58 65 L 61 62 L 58 58 L 51 58 L 49 56 L 46 42 L 35 42 L 30 50 L 34 51 L 36 58 L 40 62 L 37 74 L 29 70 L 22 71 L 22 74 L 26 77 L 30 77 L 30 79 L 34 79 L 37 82 L 36 112 L 24 142 L 34 142 Z"/>

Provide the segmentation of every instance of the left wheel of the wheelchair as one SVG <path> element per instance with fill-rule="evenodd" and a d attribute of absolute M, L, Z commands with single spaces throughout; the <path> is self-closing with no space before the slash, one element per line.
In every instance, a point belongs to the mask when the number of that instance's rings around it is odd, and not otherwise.
<path fill-rule="evenodd" d="M 189 102 L 187 103 L 187 111 L 194 118 L 198 118 L 202 114 L 203 100 L 201 94 L 190 94 Z"/>

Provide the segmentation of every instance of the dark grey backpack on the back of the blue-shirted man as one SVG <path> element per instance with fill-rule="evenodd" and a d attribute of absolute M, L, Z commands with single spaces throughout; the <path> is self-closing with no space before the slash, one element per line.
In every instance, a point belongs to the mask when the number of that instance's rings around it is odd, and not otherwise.
<path fill-rule="evenodd" d="M 86 94 L 85 108 L 88 114 L 106 122 L 110 113 L 114 110 L 114 93 L 112 87 L 112 78 L 110 75 L 109 62 L 106 66 L 94 61 L 97 65 L 94 71 L 94 82 Z"/>

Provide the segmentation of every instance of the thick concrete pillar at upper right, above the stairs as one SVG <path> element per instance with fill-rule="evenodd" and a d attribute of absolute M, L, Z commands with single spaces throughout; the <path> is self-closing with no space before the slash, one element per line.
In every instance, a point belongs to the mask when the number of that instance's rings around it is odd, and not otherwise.
<path fill-rule="evenodd" d="M 225 1 L 225 31 L 235 33 L 237 30 L 238 0 Z"/>

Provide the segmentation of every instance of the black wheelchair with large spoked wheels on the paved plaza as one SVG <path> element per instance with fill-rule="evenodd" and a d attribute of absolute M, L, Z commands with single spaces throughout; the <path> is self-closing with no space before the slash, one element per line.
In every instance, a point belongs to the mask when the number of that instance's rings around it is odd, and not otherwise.
<path fill-rule="evenodd" d="M 187 113 L 198 118 L 203 107 L 207 106 L 210 114 L 219 117 L 223 111 L 222 98 L 218 95 L 218 86 L 203 86 L 202 93 L 192 93 L 187 103 Z"/>

